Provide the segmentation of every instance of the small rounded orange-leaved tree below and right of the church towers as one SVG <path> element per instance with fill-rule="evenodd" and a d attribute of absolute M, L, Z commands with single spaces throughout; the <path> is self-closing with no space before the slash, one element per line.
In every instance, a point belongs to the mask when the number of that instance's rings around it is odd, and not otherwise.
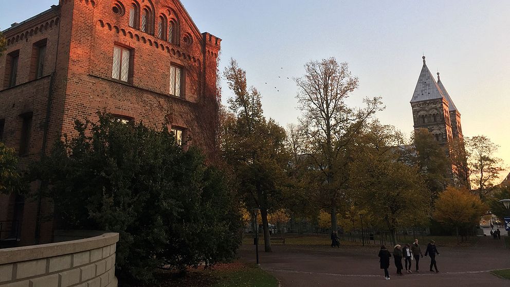
<path fill-rule="evenodd" d="M 455 228 L 459 239 L 459 229 L 475 226 L 486 211 L 487 206 L 467 189 L 448 187 L 435 203 L 434 219 Z"/>

